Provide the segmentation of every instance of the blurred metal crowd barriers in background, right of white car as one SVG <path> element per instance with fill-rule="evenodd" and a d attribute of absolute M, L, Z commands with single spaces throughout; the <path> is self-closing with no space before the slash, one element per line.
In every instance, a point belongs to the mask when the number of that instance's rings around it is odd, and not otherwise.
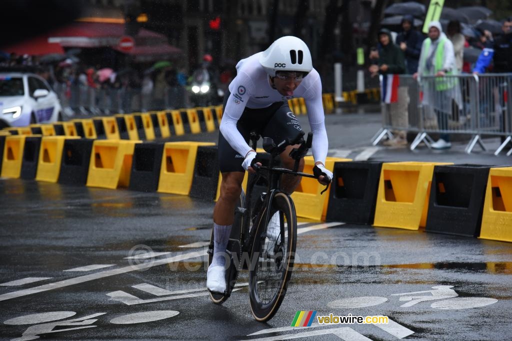
<path fill-rule="evenodd" d="M 111 115 L 125 112 L 177 109 L 187 106 L 186 89 L 166 87 L 162 97 L 155 92 L 144 93 L 140 88 L 92 88 L 88 85 L 55 83 L 53 89 L 68 116 Z"/>

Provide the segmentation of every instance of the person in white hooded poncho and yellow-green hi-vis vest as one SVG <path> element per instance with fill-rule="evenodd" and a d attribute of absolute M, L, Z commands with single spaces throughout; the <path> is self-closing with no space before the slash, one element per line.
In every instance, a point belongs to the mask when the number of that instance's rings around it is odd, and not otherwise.
<path fill-rule="evenodd" d="M 429 37 L 423 41 L 419 58 L 418 72 L 413 75 L 415 79 L 423 76 L 444 77 L 456 74 L 455 54 L 453 44 L 443 33 L 439 21 L 429 24 Z M 450 78 L 436 79 L 423 87 L 423 104 L 425 106 L 426 128 L 448 128 L 448 119 L 452 116 L 452 99 L 460 100 L 457 83 Z M 436 117 L 437 114 L 437 117 Z M 438 124 L 439 123 L 439 124 Z M 450 135 L 441 134 L 438 141 L 432 144 L 434 149 L 451 148 Z"/>

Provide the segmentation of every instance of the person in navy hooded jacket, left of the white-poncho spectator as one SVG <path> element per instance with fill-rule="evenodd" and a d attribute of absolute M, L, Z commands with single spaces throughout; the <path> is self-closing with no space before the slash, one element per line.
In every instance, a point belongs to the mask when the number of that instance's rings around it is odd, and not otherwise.
<path fill-rule="evenodd" d="M 418 70 L 419 54 L 423 35 L 414 28 L 414 17 L 404 15 L 402 29 L 396 37 L 396 44 L 403 51 L 406 58 L 407 74 L 414 74 Z"/>

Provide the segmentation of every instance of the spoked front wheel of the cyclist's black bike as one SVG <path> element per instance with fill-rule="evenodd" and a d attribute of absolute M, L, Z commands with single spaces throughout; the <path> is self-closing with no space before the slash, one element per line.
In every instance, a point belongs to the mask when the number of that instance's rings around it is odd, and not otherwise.
<path fill-rule="evenodd" d="M 269 219 L 264 207 L 255 222 L 249 269 L 249 300 L 254 319 L 270 320 L 286 294 L 295 258 L 297 221 L 295 207 L 285 193 L 276 193 Z"/>

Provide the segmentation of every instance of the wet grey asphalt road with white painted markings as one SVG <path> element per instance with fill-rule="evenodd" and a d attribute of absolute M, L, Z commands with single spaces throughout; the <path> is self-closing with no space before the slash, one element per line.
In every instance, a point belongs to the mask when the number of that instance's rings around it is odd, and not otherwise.
<path fill-rule="evenodd" d="M 463 144 L 443 153 L 368 149 L 379 122 L 376 115 L 328 117 L 331 155 L 510 160 L 465 155 Z M 215 141 L 216 134 L 180 139 Z M 0 338 L 511 339 L 512 244 L 421 231 L 302 220 L 292 283 L 270 322 L 253 320 L 243 285 L 214 305 L 203 246 L 213 206 L 170 194 L 0 180 Z M 12 282 L 27 278 L 38 280 Z M 239 283 L 246 282 L 242 272 Z M 394 323 L 286 328 L 299 310 L 386 315 Z"/>

